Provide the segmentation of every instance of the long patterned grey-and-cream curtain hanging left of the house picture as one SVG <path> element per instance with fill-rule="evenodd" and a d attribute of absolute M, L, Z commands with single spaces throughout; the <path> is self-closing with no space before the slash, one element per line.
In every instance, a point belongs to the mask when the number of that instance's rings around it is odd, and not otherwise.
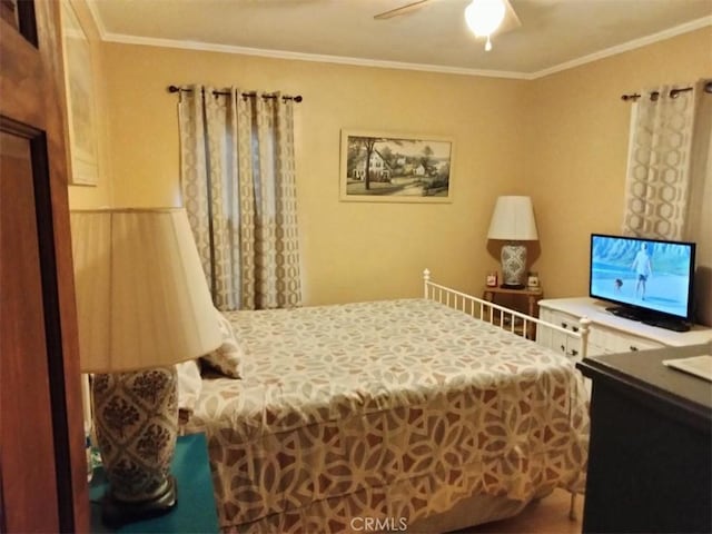
<path fill-rule="evenodd" d="M 181 190 L 215 305 L 301 304 L 290 99 L 180 92 Z"/>

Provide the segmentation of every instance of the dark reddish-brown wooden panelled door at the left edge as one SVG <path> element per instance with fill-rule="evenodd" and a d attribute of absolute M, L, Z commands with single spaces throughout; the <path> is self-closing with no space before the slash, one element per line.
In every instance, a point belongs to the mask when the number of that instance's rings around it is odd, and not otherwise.
<path fill-rule="evenodd" d="M 87 532 L 60 3 L 0 0 L 0 532 Z"/>

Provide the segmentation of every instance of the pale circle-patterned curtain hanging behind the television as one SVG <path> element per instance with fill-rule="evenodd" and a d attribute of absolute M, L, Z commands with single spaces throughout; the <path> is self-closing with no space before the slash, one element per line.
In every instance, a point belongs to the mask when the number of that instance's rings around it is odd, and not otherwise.
<path fill-rule="evenodd" d="M 662 86 L 641 92 L 633 105 L 624 234 L 683 239 L 698 92 L 694 83 Z"/>

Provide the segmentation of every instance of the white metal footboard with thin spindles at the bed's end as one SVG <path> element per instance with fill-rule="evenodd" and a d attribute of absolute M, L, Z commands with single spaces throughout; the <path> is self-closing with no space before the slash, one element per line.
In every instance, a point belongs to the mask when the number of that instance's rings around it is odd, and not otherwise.
<path fill-rule="evenodd" d="M 566 328 L 554 325 L 553 323 L 547 323 L 521 312 L 435 284 L 434 281 L 431 281 L 431 271 L 428 269 L 423 271 L 423 289 L 424 296 L 427 299 L 458 309 L 472 317 L 485 320 L 505 330 L 510 330 L 513 334 L 522 335 L 527 339 L 534 340 L 536 337 L 536 330 L 540 327 L 551 328 L 552 330 L 558 332 L 571 339 L 575 339 L 580 346 L 578 355 L 581 358 L 586 357 L 589 325 L 591 325 L 591 320 L 586 317 L 582 317 L 580 319 L 581 327 L 577 332 L 567 330 Z"/>

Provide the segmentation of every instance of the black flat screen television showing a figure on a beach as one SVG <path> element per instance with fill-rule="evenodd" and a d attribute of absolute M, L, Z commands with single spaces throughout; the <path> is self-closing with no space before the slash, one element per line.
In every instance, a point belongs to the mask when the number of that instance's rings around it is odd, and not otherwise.
<path fill-rule="evenodd" d="M 589 295 L 609 312 L 672 330 L 692 322 L 695 244 L 591 235 Z"/>

